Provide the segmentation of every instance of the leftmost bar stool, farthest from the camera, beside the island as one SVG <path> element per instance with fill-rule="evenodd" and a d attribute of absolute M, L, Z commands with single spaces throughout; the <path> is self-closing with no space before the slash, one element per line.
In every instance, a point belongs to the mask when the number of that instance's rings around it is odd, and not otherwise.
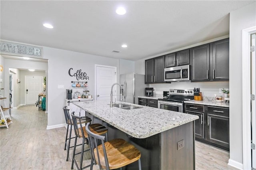
<path fill-rule="evenodd" d="M 65 106 L 65 107 L 63 107 L 63 111 L 64 111 L 64 115 L 65 115 L 66 124 L 68 125 L 67 131 L 66 131 L 65 146 L 64 146 L 64 150 L 67 149 L 66 161 L 68 161 L 69 149 L 74 147 L 74 146 L 70 146 L 70 140 L 75 137 L 71 137 L 73 123 L 72 123 L 72 119 L 70 118 L 69 109 L 67 109 Z M 84 119 L 82 119 L 81 123 L 89 123 L 91 121 L 92 121 L 92 119 L 90 119 L 90 117 L 84 117 Z M 70 129 L 69 129 L 69 126 L 70 126 Z M 68 131 L 69 131 L 69 137 L 68 137 Z M 67 142 L 67 140 L 68 140 L 68 142 Z M 82 145 L 82 144 L 80 144 L 80 145 Z"/>

